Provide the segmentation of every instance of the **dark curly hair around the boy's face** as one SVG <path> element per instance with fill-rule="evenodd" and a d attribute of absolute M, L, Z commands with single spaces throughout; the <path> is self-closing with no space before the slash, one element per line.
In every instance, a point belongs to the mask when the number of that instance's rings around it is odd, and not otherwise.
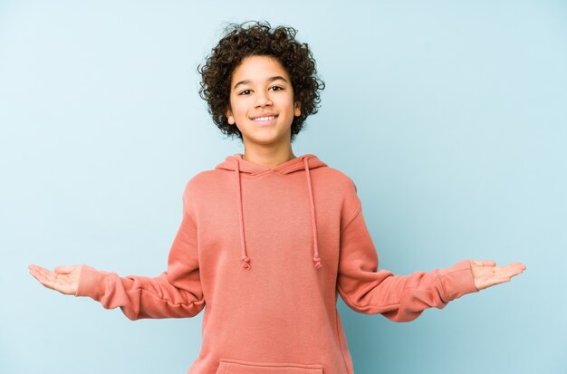
<path fill-rule="evenodd" d="M 252 23 L 252 24 L 250 24 Z M 292 122 L 291 141 L 303 129 L 305 119 L 320 107 L 320 91 L 325 83 L 317 76 L 315 60 L 307 43 L 295 40 L 293 27 L 272 28 L 268 22 L 248 21 L 228 24 L 225 34 L 207 56 L 204 65 L 198 65 L 201 74 L 199 96 L 207 101 L 208 112 L 216 126 L 227 136 L 242 133 L 230 126 L 226 110 L 230 108 L 230 83 L 235 68 L 249 56 L 269 56 L 279 61 L 292 81 L 293 101 L 301 104 L 301 115 Z"/>

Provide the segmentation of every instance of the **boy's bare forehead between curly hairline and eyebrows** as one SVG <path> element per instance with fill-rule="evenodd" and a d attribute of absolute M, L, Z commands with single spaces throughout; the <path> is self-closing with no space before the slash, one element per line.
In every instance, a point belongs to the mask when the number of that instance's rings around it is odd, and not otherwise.
<path fill-rule="evenodd" d="M 248 56 L 235 67 L 232 82 L 233 85 L 243 80 L 262 82 L 276 75 L 289 81 L 289 74 L 278 59 L 271 56 Z"/>

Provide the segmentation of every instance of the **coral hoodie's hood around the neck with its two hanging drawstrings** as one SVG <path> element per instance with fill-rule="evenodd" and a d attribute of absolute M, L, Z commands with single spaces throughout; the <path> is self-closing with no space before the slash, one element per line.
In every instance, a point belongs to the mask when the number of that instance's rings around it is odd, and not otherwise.
<path fill-rule="evenodd" d="M 309 202 L 311 207 L 311 227 L 312 227 L 312 254 L 313 264 L 315 268 L 322 267 L 321 257 L 319 257 L 319 246 L 317 244 L 317 224 L 315 219 L 315 203 L 313 200 L 313 189 L 311 183 L 311 170 L 313 168 L 326 167 L 327 164 L 322 162 L 317 156 L 313 154 L 305 154 L 296 158 L 292 158 L 283 162 L 275 168 L 266 168 L 262 165 L 246 161 L 242 153 L 235 153 L 233 156 L 226 157 L 225 161 L 216 166 L 215 169 L 224 169 L 234 171 L 235 173 L 235 193 L 236 201 L 238 202 L 238 223 L 240 225 L 240 252 L 242 259 L 242 267 L 249 269 L 251 266 L 250 257 L 246 252 L 246 238 L 245 238 L 245 219 L 242 204 L 242 184 L 240 180 L 241 174 L 259 175 L 264 173 L 305 173 L 305 193 L 309 195 Z"/>

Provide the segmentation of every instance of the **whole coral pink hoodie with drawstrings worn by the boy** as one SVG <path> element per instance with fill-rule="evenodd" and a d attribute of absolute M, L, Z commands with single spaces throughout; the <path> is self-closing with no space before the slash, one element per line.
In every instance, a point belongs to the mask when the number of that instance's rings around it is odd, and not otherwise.
<path fill-rule="evenodd" d="M 344 374 L 352 360 L 336 309 L 411 321 L 477 292 L 470 263 L 431 273 L 378 270 L 351 178 L 306 154 L 276 168 L 229 156 L 191 178 L 158 277 L 83 268 L 77 296 L 130 318 L 192 317 L 202 348 L 187 373 Z"/>

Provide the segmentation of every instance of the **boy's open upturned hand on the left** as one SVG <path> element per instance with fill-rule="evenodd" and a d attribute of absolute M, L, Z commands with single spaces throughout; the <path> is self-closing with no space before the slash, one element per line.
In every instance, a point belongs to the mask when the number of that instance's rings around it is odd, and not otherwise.
<path fill-rule="evenodd" d="M 30 273 L 35 279 L 42 283 L 44 287 L 51 288 L 52 290 L 59 291 L 67 295 L 74 295 L 77 293 L 82 265 L 57 266 L 55 267 L 54 272 L 34 264 L 31 264 L 28 267 L 30 269 Z"/>

